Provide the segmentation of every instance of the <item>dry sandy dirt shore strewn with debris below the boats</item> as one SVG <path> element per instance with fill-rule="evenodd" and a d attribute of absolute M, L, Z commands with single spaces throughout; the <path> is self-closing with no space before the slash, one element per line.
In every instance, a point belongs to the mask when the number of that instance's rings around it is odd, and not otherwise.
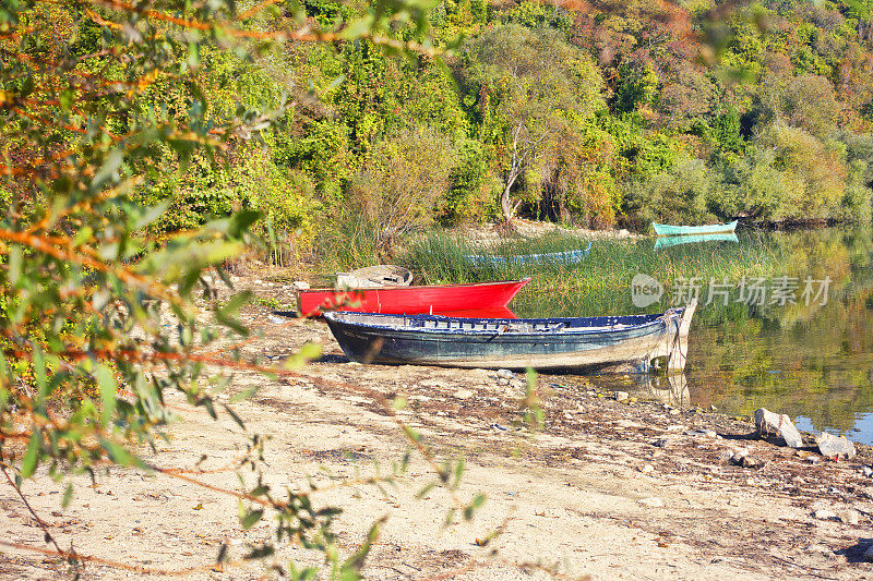
<path fill-rule="evenodd" d="M 291 302 L 286 285 L 241 282 Z M 301 491 L 310 479 L 334 484 L 312 497 L 344 509 L 336 530 L 349 555 L 369 526 L 386 518 L 363 569 L 367 578 L 547 579 L 543 568 L 551 567 L 593 579 L 873 578 L 873 564 L 862 557 L 873 544 L 866 449 L 851 461 L 823 460 L 812 448 L 796 452 L 755 438 L 748 421 L 680 409 L 653 394 L 615 401 L 608 384 L 595 387 L 566 375 L 538 377 L 545 423 L 534 431 L 518 422 L 524 389 L 517 376 L 349 363 L 322 322 L 286 323 L 266 306 L 252 307 L 250 316 L 263 335 L 246 346 L 248 352 L 278 360 L 315 341 L 324 356 L 284 378 L 238 373 L 217 398 L 259 388 L 234 404 L 247 431 L 171 397 L 179 421 L 158 453 L 143 449 L 142 456 L 160 467 L 208 471 L 239 458 L 252 433 L 271 434 L 267 482 Z M 373 394 L 402 396 L 409 406 L 393 416 Z M 439 459 L 466 459 L 458 497 L 488 498 L 473 522 L 444 524 L 452 500 L 442 489 L 416 498 L 433 479 L 417 453 L 393 484 L 335 485 L 392 473 L 409 449 L 397 420 L 419 431 Z M 741 447 L 763 465 L 731 464 L 726 452 Z M 192 579 L 271 576 L 261 564 L 210 568 L 222 545 L 236 559 L 247 543 L 270 534 L 268 521 L 241 530 L 236 498 L 166 475 L 112 470 L 98 473 L 94 485 L 77 479 L 73 501 L 62 509 L 64 483 L 38 476 L 24 491 L 64 548 L 147 569 L 201 567 L 183 576 Z M 238 487 L 229 472 L 191 476 Z M 815 518 L 820 509 L 833 517 Z M 0 486 L 0 515 L 1 538 L 47 546 L 10 486 Z M 477 540 L 498 529 L 502 534 L 479 546 Z M 278 557 L 319 562 L 299 547 Z M 82 576 L 145 573 L 88 564 Z M 53 557 L 0 550 L 2 579 L 68 577 L 70 569 Z"/>

